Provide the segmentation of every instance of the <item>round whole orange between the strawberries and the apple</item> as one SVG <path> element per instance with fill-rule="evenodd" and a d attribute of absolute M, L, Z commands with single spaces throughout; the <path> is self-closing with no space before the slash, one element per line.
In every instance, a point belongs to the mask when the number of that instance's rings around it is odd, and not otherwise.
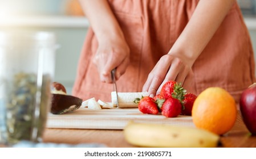
<path fill-rule="evenodd" d="M 192 108 L 193 123 L 218 135 L 228 132 L 237 119 L 234 98 L 220 87 L 209 87 L 202 91 Z"/>

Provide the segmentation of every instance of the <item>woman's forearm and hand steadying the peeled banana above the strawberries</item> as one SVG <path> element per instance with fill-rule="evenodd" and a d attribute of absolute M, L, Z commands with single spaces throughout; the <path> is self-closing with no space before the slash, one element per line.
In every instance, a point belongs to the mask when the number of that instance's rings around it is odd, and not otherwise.
<path fill-rule="evenodd" d="M 187 90 L 194 90 L 192 65 L 212 39 L 214 33 L 233 6 L 234 0 L 199 1 L 188 24 L 168 55 L 162 56 L 149 74 L 143 91 L 151 96 L 160 92 L 166 81 L 184 82 Z"/>

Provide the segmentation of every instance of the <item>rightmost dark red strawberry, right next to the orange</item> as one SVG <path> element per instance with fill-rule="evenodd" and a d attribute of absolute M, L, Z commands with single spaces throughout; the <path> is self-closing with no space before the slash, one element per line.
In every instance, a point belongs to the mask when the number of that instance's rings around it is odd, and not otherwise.
<path fill-rule="evenodd" d="M 181 114 L 183 115 L 191 115 L 192 114 L 192 108 L 194 101 L 196 100 L 197 96 L 193 93 L 186 93 L 184 95 L 183 105 L 184 108 L 181 110 Z"/>

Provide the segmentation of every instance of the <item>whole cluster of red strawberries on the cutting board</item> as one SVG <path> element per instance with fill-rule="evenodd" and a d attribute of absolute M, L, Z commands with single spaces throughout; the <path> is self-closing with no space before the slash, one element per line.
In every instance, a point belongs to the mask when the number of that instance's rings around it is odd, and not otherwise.
<path fill-rule="evenodd" d="M 186 93 L 181 83 L 176 81 L 166 82 L 155 97 L 136 98 L 135 103 L 144 114 L 159 114 L 167 118 L 174 118 L 180 114 L 191 115 L 193 103 L 197 96 L 193 93 Z"/>

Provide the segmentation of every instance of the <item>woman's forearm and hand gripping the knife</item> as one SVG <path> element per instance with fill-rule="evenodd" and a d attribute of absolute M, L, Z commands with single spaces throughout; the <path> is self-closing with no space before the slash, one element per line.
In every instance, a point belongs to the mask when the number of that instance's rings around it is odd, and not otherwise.
<path fill-rule="evenodd" d="M 98 41 L 92 59 L 100 80 L 111 83 L 111 70 L 116 68 L 116 80 L 124 74 L 129 64 L 129 47 L 107 0 L 80 0 Z"/>

